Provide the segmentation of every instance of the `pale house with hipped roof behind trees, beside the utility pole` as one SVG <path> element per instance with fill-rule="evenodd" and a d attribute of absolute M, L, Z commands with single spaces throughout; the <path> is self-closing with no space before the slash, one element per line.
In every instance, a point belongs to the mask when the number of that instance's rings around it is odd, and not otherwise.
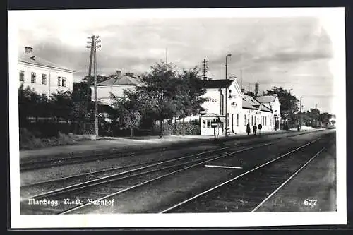
<path fill-rule="evenodd" d="M 133 73 L 121 74 L 121 71 L 116 71 L 116 76 L 97 84 L 97 101 L 102 104 L 111 104 L 112 99 L 110 94 L 115 96 L 123 96 L 124 90 L 135 89 L 136 86 L 142 85 L 140 78 L 133 76 Z M 91 86 L 92 101 L 95 100 L 95 88 Z"/>

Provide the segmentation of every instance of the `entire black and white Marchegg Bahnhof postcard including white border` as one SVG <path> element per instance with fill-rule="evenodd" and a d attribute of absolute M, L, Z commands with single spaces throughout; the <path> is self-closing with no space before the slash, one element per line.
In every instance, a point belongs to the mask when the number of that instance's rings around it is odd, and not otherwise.
<path fill-rule="evenodd" d="M 347 224 L 345 8 L 8 11 L 12 228 Z"/>

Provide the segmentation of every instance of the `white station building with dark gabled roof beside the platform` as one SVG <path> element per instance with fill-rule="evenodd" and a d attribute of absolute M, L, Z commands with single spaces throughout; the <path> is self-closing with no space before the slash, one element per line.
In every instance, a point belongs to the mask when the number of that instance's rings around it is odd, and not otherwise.
<path fill-rule="evenodd" d="M 251 130 L 253 125 L 261 123 L 263 131 L 277 130 L 280 123 L 280 102 L 277 95 L 251 97 L 241 91 L 237 79 L 203 80 L 206 93 L 203 97 L 203 115 L 201 116 L 201 135 L 213 135 L 211 123 L 219 120 L 216 135 L 225 135 L 227 115 L 227 134 L 246 133 L 246 124 Z M 227 99 L 225 90 L 227 88 Z M 259 98 L 259 100 L 258 100 Z M 227 100 L 227 104 L 226 104 Z M 225 106 L 227 105 L 227 114 Z"/>

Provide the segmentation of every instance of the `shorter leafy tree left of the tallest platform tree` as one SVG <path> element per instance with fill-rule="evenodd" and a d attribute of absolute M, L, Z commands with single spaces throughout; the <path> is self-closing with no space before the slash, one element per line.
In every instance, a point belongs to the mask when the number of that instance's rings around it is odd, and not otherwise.
<path fill-rule="evenodd" d="M 116 97 L 110 94 L 113 100 L 113 106 L 116 112 L 114 113 L 114 121 L 118 121 L 119 127 L 130 129 L 130 136 L 133 136 L 133 128 L 140 126 L 140 102 L 138 92 L 134 90 L 124 90 L 123 97 Z"/>

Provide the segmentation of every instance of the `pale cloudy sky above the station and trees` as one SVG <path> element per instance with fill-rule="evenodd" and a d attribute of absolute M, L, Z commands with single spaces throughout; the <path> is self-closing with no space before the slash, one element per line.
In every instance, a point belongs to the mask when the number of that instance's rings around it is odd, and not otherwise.
<path fill-rule="evenodd" d="M 18 11 L 18 54 L 33 54 L 88 74 L 88 36 L 100 35 L 97 73 L 116 70 L 137 75 L 166 60 L 178 68 L 208 60 L 208 77 L 242 80 L 245 90 L 259 83 L 259 93 L 274 86 L 290 90 L 304 110 L 335 113 L 335 32 L 329 14 L 272 14 L 244 11 L 59 10 Z M 329 22 L 329 23 L 328 23 Z M 344 35 L 343 35 L 344 36 Z"/>

